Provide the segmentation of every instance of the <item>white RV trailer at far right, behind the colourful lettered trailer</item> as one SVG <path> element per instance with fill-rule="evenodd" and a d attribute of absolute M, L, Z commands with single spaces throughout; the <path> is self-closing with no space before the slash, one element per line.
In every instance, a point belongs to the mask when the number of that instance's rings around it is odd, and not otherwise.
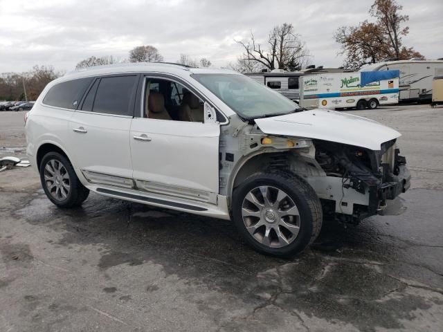
<path fill-rule="evenodd" d="M 400 60 L 364 66 L 360 71 L 399 69 L 399 101 L 431 102 L 432 80 L 443 75 L 443 60 Z"/>

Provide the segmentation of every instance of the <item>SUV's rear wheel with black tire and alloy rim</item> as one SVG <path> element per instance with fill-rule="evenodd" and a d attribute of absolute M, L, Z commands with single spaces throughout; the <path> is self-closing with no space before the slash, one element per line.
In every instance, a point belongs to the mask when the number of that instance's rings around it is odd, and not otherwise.
<path fill-rule="evenodd" d="M 48 199 L 60 208 L 81 205 L 89 196 L 66 156 L 48 152 L 39 165 L 40 181 Z"/>

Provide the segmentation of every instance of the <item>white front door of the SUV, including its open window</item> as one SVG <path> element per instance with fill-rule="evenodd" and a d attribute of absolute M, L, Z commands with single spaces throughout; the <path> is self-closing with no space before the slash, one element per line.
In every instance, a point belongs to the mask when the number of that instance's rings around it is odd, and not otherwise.
<path fill-rule="evenodd" d="M 142 110 L 136 110 L 130 133 L 137 187 L 216 203 L 219 124 L 204 123 L 203 100 L 179 82 L 161 77 L 144 80 Z"/>

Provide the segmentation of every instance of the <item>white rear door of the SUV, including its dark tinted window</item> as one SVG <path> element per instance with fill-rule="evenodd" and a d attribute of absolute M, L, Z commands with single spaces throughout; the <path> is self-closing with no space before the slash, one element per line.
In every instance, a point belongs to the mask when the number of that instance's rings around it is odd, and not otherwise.
<path fill-rule="evenodd" d="M 129 130 L 138 75 L 97 77 L 69 122 L 75 167 L 92 183 L 132 187 Z"/>

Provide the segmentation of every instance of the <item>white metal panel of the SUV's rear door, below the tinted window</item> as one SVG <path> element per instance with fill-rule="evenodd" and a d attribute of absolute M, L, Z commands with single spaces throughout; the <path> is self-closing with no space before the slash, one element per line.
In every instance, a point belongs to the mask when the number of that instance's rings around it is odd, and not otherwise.
<path fill-rule="evenodd" d="M 132 118 L 76 111 L 64 145 L 72 151 L 76 169 L 132 178 L 129 129 Z M 83 127 L 87 133 L 73 131 Z"/>

